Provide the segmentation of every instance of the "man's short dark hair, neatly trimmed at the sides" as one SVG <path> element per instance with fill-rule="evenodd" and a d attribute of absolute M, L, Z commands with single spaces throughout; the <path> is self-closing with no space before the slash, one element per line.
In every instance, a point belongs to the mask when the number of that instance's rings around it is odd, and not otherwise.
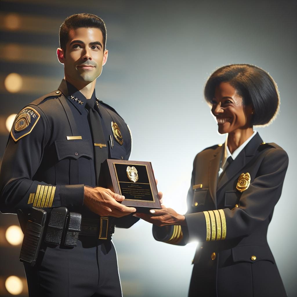
<path fill-rule="evenodd" d="M 106 26 L 102 18 L 91 13 L 78 13 L 70 15 L 64 20 L 59 31 L 60 48 L 66 53 L 66 44 L 69 40 L 70 29 L 98 28 L 103 36 L 103 49 L 106 49 Z"/>

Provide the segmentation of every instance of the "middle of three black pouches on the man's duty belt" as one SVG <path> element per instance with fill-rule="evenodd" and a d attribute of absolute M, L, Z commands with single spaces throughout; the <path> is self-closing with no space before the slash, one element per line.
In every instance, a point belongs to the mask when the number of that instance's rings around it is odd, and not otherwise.
<path fill-rule="evenodd" d="M 59 245 L 68 217 L 68 209 L 64 206 L 53 208 L 46 230 L 45 242 Z"/>

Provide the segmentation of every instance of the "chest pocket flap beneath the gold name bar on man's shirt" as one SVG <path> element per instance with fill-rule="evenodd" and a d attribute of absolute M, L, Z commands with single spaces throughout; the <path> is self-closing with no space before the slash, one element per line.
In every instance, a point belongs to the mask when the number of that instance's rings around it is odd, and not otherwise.
<path fill-rule="evenodd" d="M 93 149 L 87 139 L 56 140 L 55 145 L 59 161 L 65 158 L 78 159 L 83 156 L 93 158 Z"/>

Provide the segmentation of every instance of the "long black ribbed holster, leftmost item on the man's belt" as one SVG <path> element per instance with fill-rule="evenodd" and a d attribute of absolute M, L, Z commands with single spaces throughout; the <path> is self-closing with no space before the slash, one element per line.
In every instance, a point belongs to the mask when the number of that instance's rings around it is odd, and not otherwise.
<path fill-rule="evenodd" d="M 20 261 L 34 266 L 38 256 L 42 234 L 45 226 L 46 211 L 32 207 L 27 222 L 23 244 L 20 250 Z"/>

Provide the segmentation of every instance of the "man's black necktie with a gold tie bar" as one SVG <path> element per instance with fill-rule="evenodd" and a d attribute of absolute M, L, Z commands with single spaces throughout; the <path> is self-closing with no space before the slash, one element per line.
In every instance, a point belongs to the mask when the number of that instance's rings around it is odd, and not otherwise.
<path fill-rule="evenodd" d="M 101 163 L 108 158 L 108 149 L 102 129 L 101 118 L 99 113 L 94 109 L 94 104 L 95 101 L 93 99 L 88 99 L 86 102 L 86 109 L 89 111 L 88 120 L 93 136 L 96 186 L 98 186 Z"/>

